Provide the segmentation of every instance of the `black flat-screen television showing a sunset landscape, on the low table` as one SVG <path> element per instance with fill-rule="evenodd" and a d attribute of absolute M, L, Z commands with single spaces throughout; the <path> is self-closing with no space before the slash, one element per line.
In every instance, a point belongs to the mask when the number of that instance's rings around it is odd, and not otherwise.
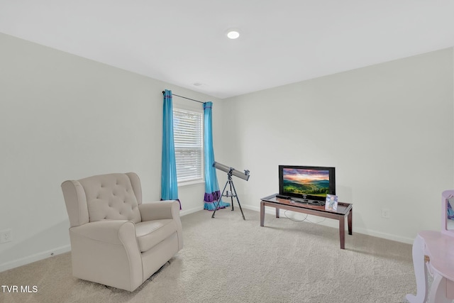
<path fill-rule="evenodd" d="M 325 201 L 336 194 L 335 167 L 279 165 L 279 195 Z"/>

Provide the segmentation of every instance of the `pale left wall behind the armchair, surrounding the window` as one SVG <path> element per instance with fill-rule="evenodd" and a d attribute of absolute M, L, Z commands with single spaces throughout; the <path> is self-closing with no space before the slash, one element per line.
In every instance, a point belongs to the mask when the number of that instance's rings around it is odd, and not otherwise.
<path fill-rule="evenodd" d="M 0 33 L 0 271 L 70 249 L 65 180 L 132 171 L 160 199 L 163 89 L 218 101 Z M 203 197 L 180 188 L 182 214 Z"/>

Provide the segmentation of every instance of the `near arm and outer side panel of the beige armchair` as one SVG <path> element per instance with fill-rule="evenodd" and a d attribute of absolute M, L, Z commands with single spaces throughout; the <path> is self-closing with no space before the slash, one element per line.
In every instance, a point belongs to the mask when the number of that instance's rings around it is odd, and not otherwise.
<path fill-rule="evenodd" d="M 143 283 L 132 221 L 103 220 L 73 226 L 70 240 L 74 277 L 131 292 Z"/>

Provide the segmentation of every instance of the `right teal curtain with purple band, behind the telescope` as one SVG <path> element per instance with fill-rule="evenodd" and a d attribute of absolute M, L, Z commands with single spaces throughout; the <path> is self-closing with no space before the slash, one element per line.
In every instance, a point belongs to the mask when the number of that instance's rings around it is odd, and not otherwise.
<path fill-rule="evenodd" d="M 221 191 L 219 190 L 218 178 L 216 177 L 216 168 L 213 167 L 214 163 L 214 150 L 213 150 L 213 131 L 211 122 L 211 111 L 213 109 L 213 102 L 204 103 L 204 165 L 205 165 L 205 197 L 204 209 L 214 211 L 216 202 L 221 199 Z M 230 203 L 223 201 L 219 202 L 218 208 L 225 208 Z"/>

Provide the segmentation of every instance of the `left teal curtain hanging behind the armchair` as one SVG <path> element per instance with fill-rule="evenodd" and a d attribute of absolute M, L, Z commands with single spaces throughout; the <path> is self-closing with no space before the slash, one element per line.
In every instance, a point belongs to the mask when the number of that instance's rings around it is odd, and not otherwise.
<path fill-rule="evenodd" d="M 161 200 L 178 200 L 177 163 L 173 141 L 172 91 L 164 91 L 162 106 Z M 180 203 L 181 209 L 181 203 Z"/>

